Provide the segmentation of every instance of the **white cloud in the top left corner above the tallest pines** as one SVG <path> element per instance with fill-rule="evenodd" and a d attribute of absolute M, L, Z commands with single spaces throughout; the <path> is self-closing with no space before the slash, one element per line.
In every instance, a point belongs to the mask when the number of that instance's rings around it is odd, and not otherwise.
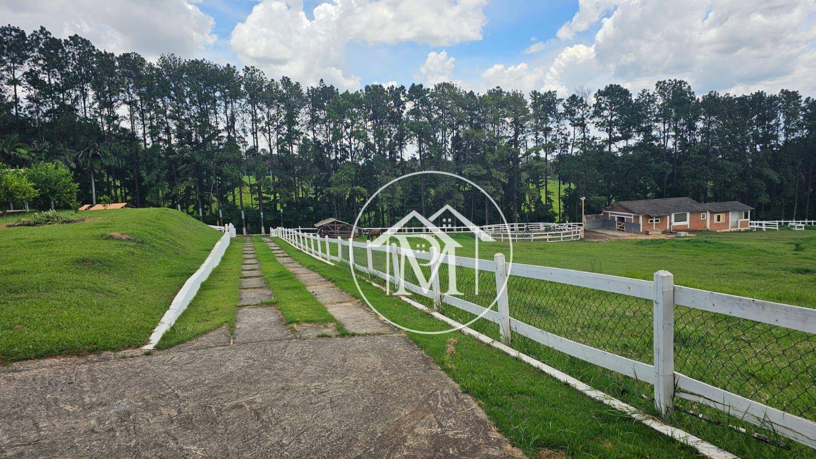
<path fill-rule="evenodd" d="M 11 0 L 0 2 L 2 24 L 26 32 L 45 26 L 56 37 L 77 33 L 100 49 L 189 56 L 215 42 L 214 24 L 193 0 Z"/>

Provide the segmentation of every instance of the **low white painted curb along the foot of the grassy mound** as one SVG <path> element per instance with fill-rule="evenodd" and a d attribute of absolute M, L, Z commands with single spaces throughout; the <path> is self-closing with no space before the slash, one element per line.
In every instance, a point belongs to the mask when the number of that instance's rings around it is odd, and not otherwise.
<path fill-rule="evenodd" d="M 193 301 L 193 298 L 196 296 L 198 289 L 202 286 L 202 283 L 210 277 L 210 273 L 218 266 L 221 261 L 221 257 L 224 256 L 224 252 L 227 251 L 227 247 L 229 247 L 229 240 L 235 237 L 235 227 L 233 224 L 229 224 L 224 229 L 224 235 L 215 243 L 215 247 L 212 247 L 210 255 L 206 257 L 204 263 L 202 263 L 201 267 L 187 279 L 187 282 L 184 283 L 184 286 L 181 287 L 178 293 L 175 294 L 175 298 L 173 298 L 173 302 L 170 304 L 170 308 L 164 313 L 162 316 L 162 320 L 159 321 L 156 328 L 153 329 L 153 333 L 150 335 L 150 340 L 147 345 L 144 345 L 142 349 L 144 350 L 152 350 L 158 344 L 158 341 L 162 339 L 162 335 L 169 330 L 173 324 L 175 323 L 175 319 L 179 319 L 181 313 L 187 309 L 187 306 L 190 304 L 190 301 Z"/>

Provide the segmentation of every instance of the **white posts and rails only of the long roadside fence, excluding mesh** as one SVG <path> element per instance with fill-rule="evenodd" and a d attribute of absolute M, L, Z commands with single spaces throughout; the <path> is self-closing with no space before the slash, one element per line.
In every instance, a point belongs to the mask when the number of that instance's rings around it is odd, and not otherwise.
<path fill-rule="evenodd" d="M 653 385 L 655 407 L 664 415 L 672 412 L 675 397 L 687 399 L 728 412 L 743 419 L 743 421 L 774 430 L 787 438 L 794 439 L 811 448 L 816 448 L 816 422 L 773 408 L 760 401 L 734 394 L 706 382 L 698 381 L 681 372 L 676 372 L 674 368 L 675 305 L 707 311 L 712 314 L 752 320 L 769 326 L 787 328 L 791 332 L 804 332 L 808 335 L 816 335 L 816 310 L 682 287 L 674 284 L 672 274 L 667 271 L 654 273 L 652 280 L 641 280 L 539 265 L 505 263 L 504 256 L 500 253 L 496 254 L 492 261 L 461 256 L 439 256 L 440 261 L 438 263 L 440 264 L 456 265 L 472 270 L 494 271 L 496 276 L 495 285 L 505 285 L 503 282 L 504 276 L 515 276 L 518 278 L 540 279 L 568 286 L 586 287 L 651 301 L 653 305 L 651 322 L 653 323 L 654 359 L 652 359 L 652 363 L 644 363 L 570 340 L 564 336 L 558 336 L 512 317 L 508 308 L 508 297 L 511 297 L 513 292 L 508 292 L 506 288 L 499 292 L 496 301 L 498 307 L 494 310 L 466 301 L 458 296 L 450 296 L 440 292 L 438 274 L 430 289 L 409 283 L 406 279 L 402 279 L 401 276 L 392 274 L 404 273 L 403 270 L 406 269 L 404 255 L 413 256 L 418 260 L 430 261 L 432 260 L 430 252 L 401 249 L 396 244 L 375 246 L 370 242 L 360 243 L 342 238 L 321 238 L 315 234 L 304 234 L 297 230 L 282 228 L 274 230 L 273 235 L 283 238 L 293 247 L 320 260 L 329 263 L 339 261 L 353 264 L 362 272 L 384 279 L 387 283 L 393 283 L 395 286 L 405 287 L 406 290 L 420 296 L 428 297 L 432 300 L 435 310 L 438 310 L 439 306 L 444 303 L 468 313 L 481 314 L 482 319 L 499 324 L 500 336 L 506 344 L 509 344 L 512 340 L 512 334 L 519 334 L 575 358 Z M 360 259 L 357 260 L 355 258 L 355 249 L 359 253 L 365 252 L 366 255 L 360 256 Z M 384 271 L 375 269 L 373 254 L 376 252 L 384 253 L 386 260 L 384 262 Z M 802 342 L 812 342 L 807 341 L 808 339 L 808 337 L 805 337 L 805 341 Z M 812 353 L 813 350 L 810 350 L 810 352 Z M 800 375 L 800 377 L 802 376 Z M 807 377 L 807 375 L 804 377 Z M 780 384 L 784 385 L 785 381 L 780 381 Z M 805 384 L 806 387 L 809 386 L 807 381 L 802 381 L 802 384 Z"/>

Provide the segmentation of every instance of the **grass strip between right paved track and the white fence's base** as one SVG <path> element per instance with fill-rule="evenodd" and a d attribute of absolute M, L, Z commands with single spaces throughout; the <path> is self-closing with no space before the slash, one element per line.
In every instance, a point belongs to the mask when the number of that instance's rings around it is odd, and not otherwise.
<path fill-rule="evenodd" d="M 360 297 L 347 265 L 330 266 L 276 239 L 286 252 Z M 419 330 L 442 330 L 433 319 L 378 287 L 360 283 L 363 292 L 389 319 Z M 554 449 L 590 457 L 694 457 L 694 451 L 658 434 L 601 403 L 588 399 L 530 365 L 459 332 L 440 335 L 408 333 L 462 390 L 475 397 L 512 443 L 531 457 Z M 455 353 L 446 351 L 455 338 Z M 397 358 L 398 356 L 395 356 Z"/>

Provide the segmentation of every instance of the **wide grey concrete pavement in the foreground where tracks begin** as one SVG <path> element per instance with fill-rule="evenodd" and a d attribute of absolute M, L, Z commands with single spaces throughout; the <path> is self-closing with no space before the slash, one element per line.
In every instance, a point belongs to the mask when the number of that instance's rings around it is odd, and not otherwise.
<path fill-rule="evenodd" d="M 299 339 L 273 307 L 238 314 L 233 344 L 0 368 L 0 456 L 520 456 L 407 336 Z"/>

